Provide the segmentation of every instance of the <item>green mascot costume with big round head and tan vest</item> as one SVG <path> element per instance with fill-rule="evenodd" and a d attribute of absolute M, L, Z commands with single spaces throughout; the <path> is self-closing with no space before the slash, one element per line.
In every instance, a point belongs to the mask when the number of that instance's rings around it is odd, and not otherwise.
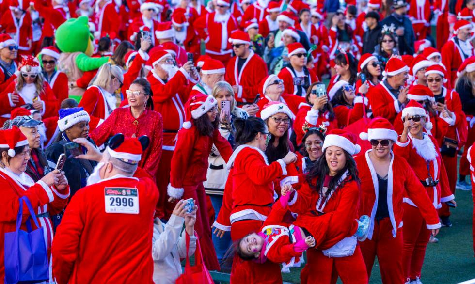
<path fill-rule="evenodd" d="M 85 71 L 95 70 L 107 63 L 109 56 L 91 57 L 94 53 L 94 36 L 89 31 L 86 16 L 65 21 L 56 30 L 55 38 L 56 45 L 62 52 L 58 69 L 68 76 L 69 95 L 80 99 L 85 90 L 76 86 L 76 80 Z"/>

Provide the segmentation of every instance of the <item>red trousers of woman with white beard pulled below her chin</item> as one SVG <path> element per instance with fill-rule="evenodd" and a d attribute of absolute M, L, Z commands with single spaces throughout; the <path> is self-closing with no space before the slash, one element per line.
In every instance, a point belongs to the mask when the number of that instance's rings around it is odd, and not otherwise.
<path fill-rule="evenodd" d="M 405 278 L 415 279 L 421 277 L 422 265 L 426 256 L 426 247 L 430 237 L 426 221 L 422 218 L 419 208 L 404 203 L 402 221 L 404 246 L 402 261 L 404 264 Z"/>

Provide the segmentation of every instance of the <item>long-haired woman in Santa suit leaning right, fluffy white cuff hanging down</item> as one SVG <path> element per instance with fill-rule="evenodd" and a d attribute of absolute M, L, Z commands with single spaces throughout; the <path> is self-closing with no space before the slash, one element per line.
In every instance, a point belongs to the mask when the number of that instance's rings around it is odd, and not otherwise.
<path fill-rule="evenodd" d="M 218 259 L 211 240 L 211 226 L 208 221 L 206 194 L 203 181 L 206 180 L 208 156 L 212 145 L 216 145 L 222 158 L 227 161 L 233 149 L 218 129 L 216 116 L 217 100 L 208 95 L 191 96 L 185 104 L 187 121 L 178 131 L 177 142 L 171 162 L 169 202 L 180 198 L 193 198 L 198 205 L 195 230 L 200 237 L 206 267 L 219 270 Z"/>

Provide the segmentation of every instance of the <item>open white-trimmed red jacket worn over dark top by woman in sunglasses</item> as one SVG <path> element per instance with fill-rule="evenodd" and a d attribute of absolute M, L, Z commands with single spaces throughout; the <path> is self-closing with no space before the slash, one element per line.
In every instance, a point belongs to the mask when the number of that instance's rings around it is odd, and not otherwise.
<path fill-rule="evenodd" d="M 378 207 L 378 199 L 384 198 L 388 204 L 389 219 L 393 227 L 392 235 L 396 237 L 397 229 L 402 227 L 403 198 L 409 196 L 419 207 L 427 222 L 428 229 L 440 228 L 439 216 L 430 201 L 426 190 L 412 171 L 407 161 L 392 154 L 388 173 L 387 196 L 379 196 L 378 177 L 368 150 L 364 155 L 355 157 L 358 176 L 361 180 L 360 215 L 371 217 L 368 239 L 373 237 L 374 218 Z"/>

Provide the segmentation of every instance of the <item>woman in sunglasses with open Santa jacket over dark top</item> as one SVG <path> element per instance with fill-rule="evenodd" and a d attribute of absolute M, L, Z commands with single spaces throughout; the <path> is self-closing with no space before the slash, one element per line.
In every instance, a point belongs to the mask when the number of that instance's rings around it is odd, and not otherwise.
<path fill-rule="evenodd" d="M 402 262 L 405 194 L 417 204 L 433 235 L 441 224 L 426 190 L 407 161 L 391 151 L 397 141 L 391 123 L 385 118 L 375 118 L 360 138 L 369 140 L 372 146 L 355 158 L 361 178 L 359 213 L 371 217 L 368 238 L 360 243 L 361 253 L 368 276 L 378 256 L 382 282 L 402 284 L 406 281 Z"/>

